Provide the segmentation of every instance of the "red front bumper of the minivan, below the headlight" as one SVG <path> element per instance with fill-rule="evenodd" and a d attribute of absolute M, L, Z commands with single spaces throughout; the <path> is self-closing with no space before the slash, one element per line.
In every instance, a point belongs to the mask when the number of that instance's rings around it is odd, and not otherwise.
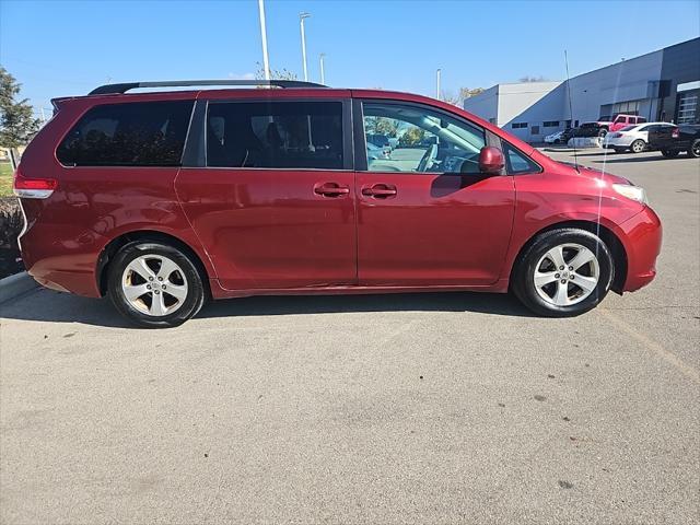
<path fill-rule="evenodd" d="M 662 225 L 649 206 L 620 224 L 627 252 L 627 278 L 623 292 L 633 292 L 656 277 L 656 257 L 661 253 Z"/>

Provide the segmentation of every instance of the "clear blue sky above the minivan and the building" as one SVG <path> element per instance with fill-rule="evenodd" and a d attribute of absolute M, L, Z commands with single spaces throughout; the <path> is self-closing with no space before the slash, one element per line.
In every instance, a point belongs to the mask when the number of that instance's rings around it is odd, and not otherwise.
<path fill-rule="evenodd" d="M 524 75 L 564 77 L 699 35 L 700 2 L 266 0 L 272 68 L 310 80 L 432 95 Z M 0 63 L 49 107 L 107 81 L 250 75 L 262 61 L 257 0 L 0 0 Z"/>

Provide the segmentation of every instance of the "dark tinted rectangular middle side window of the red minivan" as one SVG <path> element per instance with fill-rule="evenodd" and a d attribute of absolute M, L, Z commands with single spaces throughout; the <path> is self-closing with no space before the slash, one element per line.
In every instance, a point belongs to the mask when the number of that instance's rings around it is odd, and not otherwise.
<path fill-rule="evenodd" d="M 215 102 L 207 165 L 342 170 L 342 103 Z"/>

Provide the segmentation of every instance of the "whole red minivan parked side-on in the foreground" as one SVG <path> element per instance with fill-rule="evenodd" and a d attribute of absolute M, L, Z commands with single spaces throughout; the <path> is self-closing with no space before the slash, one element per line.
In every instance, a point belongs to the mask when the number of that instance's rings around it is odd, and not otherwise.
<path fill-rule="evenodd" d="M 256 294 L 512 290 L 570 316 L 654 278 L 661 223 L 623 178 L 424 96 L 261 84 L 56 100 L 14 179 L 30 275 L 148 327 Z"/>

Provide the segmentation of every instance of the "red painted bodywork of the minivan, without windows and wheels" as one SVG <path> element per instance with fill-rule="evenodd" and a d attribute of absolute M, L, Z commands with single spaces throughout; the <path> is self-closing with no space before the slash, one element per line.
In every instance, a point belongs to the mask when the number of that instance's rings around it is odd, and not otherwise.
<path fill-rule="evenodd" d="M 210 98 L 382 98 L 431 105 L 508 140 L 542 167 L 526 175 L 445 175 L 319 170 L 65 167 L 55 150 L 97 103 Z M 486 148 L 485 172 L 503 155 Z M 221 90 L 101 95 L 61 101 L 27 148 L 19 185 L 56 180 L 44 200 L 22 199 L 25 265 L 50 288 L 98 296 L 109 242 L 160 232 L 201 260 L 214 298 L 409 290 L 506 291 L 513 264 L 539 231 L 599 223 L 628 259 L 623 290 L 651 281 L 661 223 L 615 192 L 617 177 L 557 163 L 455 106 L 418 95 L 348 90 Z M 33 183 L 32 180 L 35 180 Z M 27 187 L 28 187 L 27 186 Z"/>

